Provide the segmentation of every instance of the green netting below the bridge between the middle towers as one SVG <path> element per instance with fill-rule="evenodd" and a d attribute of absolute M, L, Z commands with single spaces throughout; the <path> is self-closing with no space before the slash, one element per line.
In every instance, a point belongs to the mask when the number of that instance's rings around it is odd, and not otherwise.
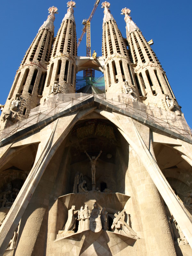
<path fill-rule="evenodd" d="M 85 77 L 76 76 L 76 92 L 83 89 L 85 86 L 91 85 L 93 88 L 97 88 L 100 93 L 105 92 L 105 80 L 104 76 L 101 77 Z"/>

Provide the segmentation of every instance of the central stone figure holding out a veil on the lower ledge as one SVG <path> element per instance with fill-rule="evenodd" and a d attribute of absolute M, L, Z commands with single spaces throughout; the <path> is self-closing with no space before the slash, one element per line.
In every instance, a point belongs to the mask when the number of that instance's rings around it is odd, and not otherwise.
<path fill-rule="evenodd" d="M 97 208 L 97 205 L 93 205 L 91 211 L 89 228 L 92 232 L 99 232 L 102 229 L 101 219 L 100 219 L 100 208 Z"/>

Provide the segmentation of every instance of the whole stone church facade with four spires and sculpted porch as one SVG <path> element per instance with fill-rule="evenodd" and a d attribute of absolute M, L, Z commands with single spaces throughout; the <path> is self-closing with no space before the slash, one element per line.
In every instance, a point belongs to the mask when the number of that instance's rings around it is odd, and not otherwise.
<path fill-rule="evenodd" d="M 102 56 L 77 56 L 67 5 L 56 37 L 49 8 L 1 113 L 0 256 L 192 255 L 192 133 L 165 71 L 108 2 Z M 87 68 L 104 93 L 77 92 Z"/>

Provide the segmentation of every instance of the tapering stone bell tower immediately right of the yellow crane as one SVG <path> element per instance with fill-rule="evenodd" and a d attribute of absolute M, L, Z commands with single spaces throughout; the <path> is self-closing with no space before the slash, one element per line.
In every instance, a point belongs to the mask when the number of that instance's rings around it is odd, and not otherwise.
<path fill-rule="evenodd" d="M 131 92 L 135 98 L 139 98 L 126 45 L 109 7 L 108 2 L 102 3 L 104 8 L 102 55 L 106 93 Z"/>

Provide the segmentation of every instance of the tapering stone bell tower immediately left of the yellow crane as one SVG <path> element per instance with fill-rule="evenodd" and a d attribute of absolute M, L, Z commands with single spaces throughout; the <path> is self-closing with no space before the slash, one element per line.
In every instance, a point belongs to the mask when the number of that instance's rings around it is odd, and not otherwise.
<path fill-rule="evenodd" d="M 41 103 L 56 90 L 57 93 L 75 93 L 77 42 L 74 18 L 74 1 L 67 3 L 68 10 L 55 38 L 48 66 L 47 78 Z M 55 83 L 56 82 L 56 83 Z"/>

